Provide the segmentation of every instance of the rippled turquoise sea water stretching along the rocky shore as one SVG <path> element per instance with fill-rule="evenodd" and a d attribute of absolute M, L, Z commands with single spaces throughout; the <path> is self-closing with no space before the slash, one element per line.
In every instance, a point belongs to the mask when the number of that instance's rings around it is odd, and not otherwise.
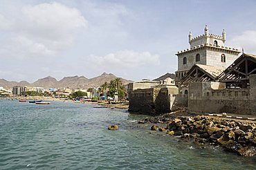
<path fill-rule="evenodd" d="M 143 115 L 94 106 L 0 100 L 0 169 L 256 169 L 255 158 L 179 142 L 137 124 Z"/>

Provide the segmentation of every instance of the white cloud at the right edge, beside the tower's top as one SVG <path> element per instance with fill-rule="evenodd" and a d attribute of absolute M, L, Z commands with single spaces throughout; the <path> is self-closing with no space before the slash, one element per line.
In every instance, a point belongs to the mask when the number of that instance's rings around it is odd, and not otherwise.
<path fill-rule="evenodd" d="M 244 48 L 245 53 L 256 54 L 256 30 L 246 30 L 241 35 L 233 37 L 230 41 L 232 46 Z"/>

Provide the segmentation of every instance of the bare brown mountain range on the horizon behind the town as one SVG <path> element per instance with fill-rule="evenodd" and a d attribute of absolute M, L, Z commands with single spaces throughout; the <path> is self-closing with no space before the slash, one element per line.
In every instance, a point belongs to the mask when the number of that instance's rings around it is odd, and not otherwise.
<path fill-rule="evenodd" d="M 90 88 L 90 87 L 99 87 L 104 84 L 104 82 L 110 82 L 115 79 L 116 75 L 112 73 L 102 73 L 102 75 L 98 77 L 93 77 L 88 79 L 84 76 L 73 76 L 73 77 L 64 77 L 57 81 L 54 77 L 48 76 L 42 79 L 38 79 L 37 81 L 29 84 L 26 81 L 21 82 L 8 82 L 6 79 L 0 79 L 0 86 L 3 88 L 10 89 L 13 86 L 35 86 L 35 87 L 44 87 L 44 88 Z M 131 80 L 121 78 L 123 84 L 128 84 L 133 82 Z"/>

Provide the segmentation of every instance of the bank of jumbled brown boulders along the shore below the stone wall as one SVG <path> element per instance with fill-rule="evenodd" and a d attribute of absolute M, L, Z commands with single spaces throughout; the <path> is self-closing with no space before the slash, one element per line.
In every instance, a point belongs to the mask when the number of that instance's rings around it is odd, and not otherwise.
<path fill-rule="evenodd" d="M 139 124 L 154 124 L 152 131 L 176 135 L 196 144 L 212 144 L 242 156 L 256 155 L 256 122 L 191 113 L 148 117 Z"/>

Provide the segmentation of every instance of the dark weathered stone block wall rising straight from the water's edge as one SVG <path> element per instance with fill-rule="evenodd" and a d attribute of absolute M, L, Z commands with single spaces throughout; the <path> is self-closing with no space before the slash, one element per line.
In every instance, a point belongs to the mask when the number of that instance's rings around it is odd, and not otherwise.
<path fill-rule="evenodd" d="M 129 111 L 150 115 L 169 113 L 174 109 L 178 88 L 137 89 L 129 93 Z"/>

